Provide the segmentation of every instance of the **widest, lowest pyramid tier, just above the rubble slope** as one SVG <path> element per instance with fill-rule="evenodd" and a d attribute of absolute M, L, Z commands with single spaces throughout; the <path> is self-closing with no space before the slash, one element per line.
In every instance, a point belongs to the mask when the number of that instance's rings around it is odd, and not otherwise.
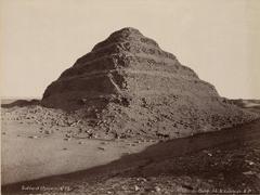
<path fill-rule="evenodd" d="M 219 96 L 211 84 L 199 79 L 188 79 L 167 72 L 123 68 L 60 79 L 48 87 L 43 94 L 43 103 L 51 105 L 49 102 L 55 102 L 52 106 L 62 108 L 66 102 L 69 102 L 75 104 L 73 107 L 79 108 L 82 100 L 104 99 L 104 96 L 118 99 L 125 96 L 128 100 L 141 94 Z M 53 101 L 53 99 L 60 100 Z"/>

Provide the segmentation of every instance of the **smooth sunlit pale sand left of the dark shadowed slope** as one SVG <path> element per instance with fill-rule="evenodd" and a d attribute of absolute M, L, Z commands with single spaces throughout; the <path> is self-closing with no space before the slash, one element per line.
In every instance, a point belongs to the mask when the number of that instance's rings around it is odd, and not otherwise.
<path fill-rule="evenodd" d="M 21 121 L 20 121 L 21 122 Z M 138 153 L 151 143 L 72 139 L 40 133 L 35 123 L 2 122 L 2 184 L 101 166 Z"/>

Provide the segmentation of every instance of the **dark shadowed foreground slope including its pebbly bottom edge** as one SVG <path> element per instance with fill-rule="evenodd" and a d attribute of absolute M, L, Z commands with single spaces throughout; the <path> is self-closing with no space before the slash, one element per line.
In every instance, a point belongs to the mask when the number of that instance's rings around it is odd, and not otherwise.
<path fill-rule="evenodd" d="M 260 194 L 260 120 L 159 142 L 83 171 L 2 186 L 2 194 L 190 193 Z"/>

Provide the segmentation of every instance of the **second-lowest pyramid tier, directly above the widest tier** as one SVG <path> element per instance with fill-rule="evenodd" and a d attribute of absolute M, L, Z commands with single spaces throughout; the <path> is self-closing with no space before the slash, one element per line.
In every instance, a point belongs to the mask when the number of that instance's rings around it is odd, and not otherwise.
<path fill-rule="evenodd" d="M 156 58 L 147 55 L 133 55 L 131 53 L 105 55 L 93 61 L 84 62 L 78 66 L 66 69 L 60 79 L 123 68 L 140 72 L 171 73 L 177 76 L 198 79 L 197 75 L 191 68 L 181 65 L 177 58 Z"/>

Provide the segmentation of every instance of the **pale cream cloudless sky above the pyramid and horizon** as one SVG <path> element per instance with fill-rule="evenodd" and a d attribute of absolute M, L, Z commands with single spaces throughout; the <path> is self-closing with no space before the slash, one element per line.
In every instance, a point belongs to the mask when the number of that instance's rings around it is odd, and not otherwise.
<path fill-rule="evenodd" d="M 0 0 L 1 96 L 41 96 L 95 43 L 138 28 L 222 96 L 260 99 L 259 0 Z"/>

